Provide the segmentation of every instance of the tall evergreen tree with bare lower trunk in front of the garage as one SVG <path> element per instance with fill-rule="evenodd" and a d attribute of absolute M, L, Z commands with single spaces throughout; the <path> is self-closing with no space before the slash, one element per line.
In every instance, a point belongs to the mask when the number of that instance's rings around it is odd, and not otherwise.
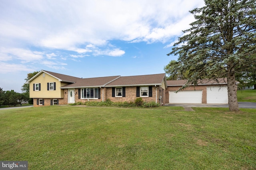
<path fill-rule="evenodd" d="M 187 83 L 227 77 L 229 109 L 238 111 L 235 74 L 256 63 L 256 0 L 204 2 L 190 11 L 196 21 L 167 55 L 179 55 L 180 70 L 194 66 Z"/>

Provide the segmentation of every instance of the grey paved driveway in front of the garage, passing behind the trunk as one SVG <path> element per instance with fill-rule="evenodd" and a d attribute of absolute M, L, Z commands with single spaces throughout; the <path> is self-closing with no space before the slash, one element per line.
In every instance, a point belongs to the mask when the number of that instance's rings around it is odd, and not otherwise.
<path fill-rule="evenodd" d="M 228 104 L 165 104 L 164 106 L 181 106 L 181 107 L 228 107 Z M 254 102 L 238 102 L 239 108 L 256 109 Z"/>

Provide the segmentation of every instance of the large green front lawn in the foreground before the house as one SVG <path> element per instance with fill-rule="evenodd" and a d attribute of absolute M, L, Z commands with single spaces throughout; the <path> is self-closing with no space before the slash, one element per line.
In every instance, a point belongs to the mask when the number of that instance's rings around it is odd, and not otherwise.
<path fill-rule="evenodd" d="M 256 169 L 256 109 L 0 110 L 0 160 L 29 170 Z"/>

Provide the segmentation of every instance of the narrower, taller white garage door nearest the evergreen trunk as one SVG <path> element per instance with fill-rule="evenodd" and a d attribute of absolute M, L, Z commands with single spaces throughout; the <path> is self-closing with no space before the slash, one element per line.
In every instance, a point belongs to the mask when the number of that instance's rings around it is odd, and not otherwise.
<path fill-rule="evenodd" d="M 228 88 L 226 86 L 207 87 L 208 104 L 227 104 L 228 103 Z"/>

